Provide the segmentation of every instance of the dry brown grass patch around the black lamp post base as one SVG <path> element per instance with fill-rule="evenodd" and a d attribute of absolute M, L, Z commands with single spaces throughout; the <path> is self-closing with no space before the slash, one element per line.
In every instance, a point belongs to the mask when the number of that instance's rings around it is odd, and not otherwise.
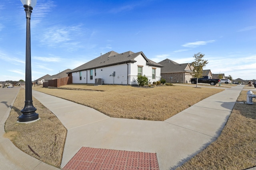
<path fill-rule="evenodd" d="M 33 104 L 40 120 L 28 124 L 17 123 L 24 101 L 25 90 L 21 88 L 5 123 L 5 136 L 23 152 L 59 168 L 66 140 L 65 127 L 51 111 L 34 98 Z"/>

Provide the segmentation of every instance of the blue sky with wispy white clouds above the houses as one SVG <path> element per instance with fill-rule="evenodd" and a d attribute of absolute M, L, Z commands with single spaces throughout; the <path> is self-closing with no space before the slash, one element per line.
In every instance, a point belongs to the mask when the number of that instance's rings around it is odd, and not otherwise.
<path fill-rule="evenodd" d="M 32 80 L 109 51 L 191 63 L 256 79 L 256 0 L 37 0 L 31 15 Z M 0 81 L 25 80 L 26 14 L 0 3 Z"/>

